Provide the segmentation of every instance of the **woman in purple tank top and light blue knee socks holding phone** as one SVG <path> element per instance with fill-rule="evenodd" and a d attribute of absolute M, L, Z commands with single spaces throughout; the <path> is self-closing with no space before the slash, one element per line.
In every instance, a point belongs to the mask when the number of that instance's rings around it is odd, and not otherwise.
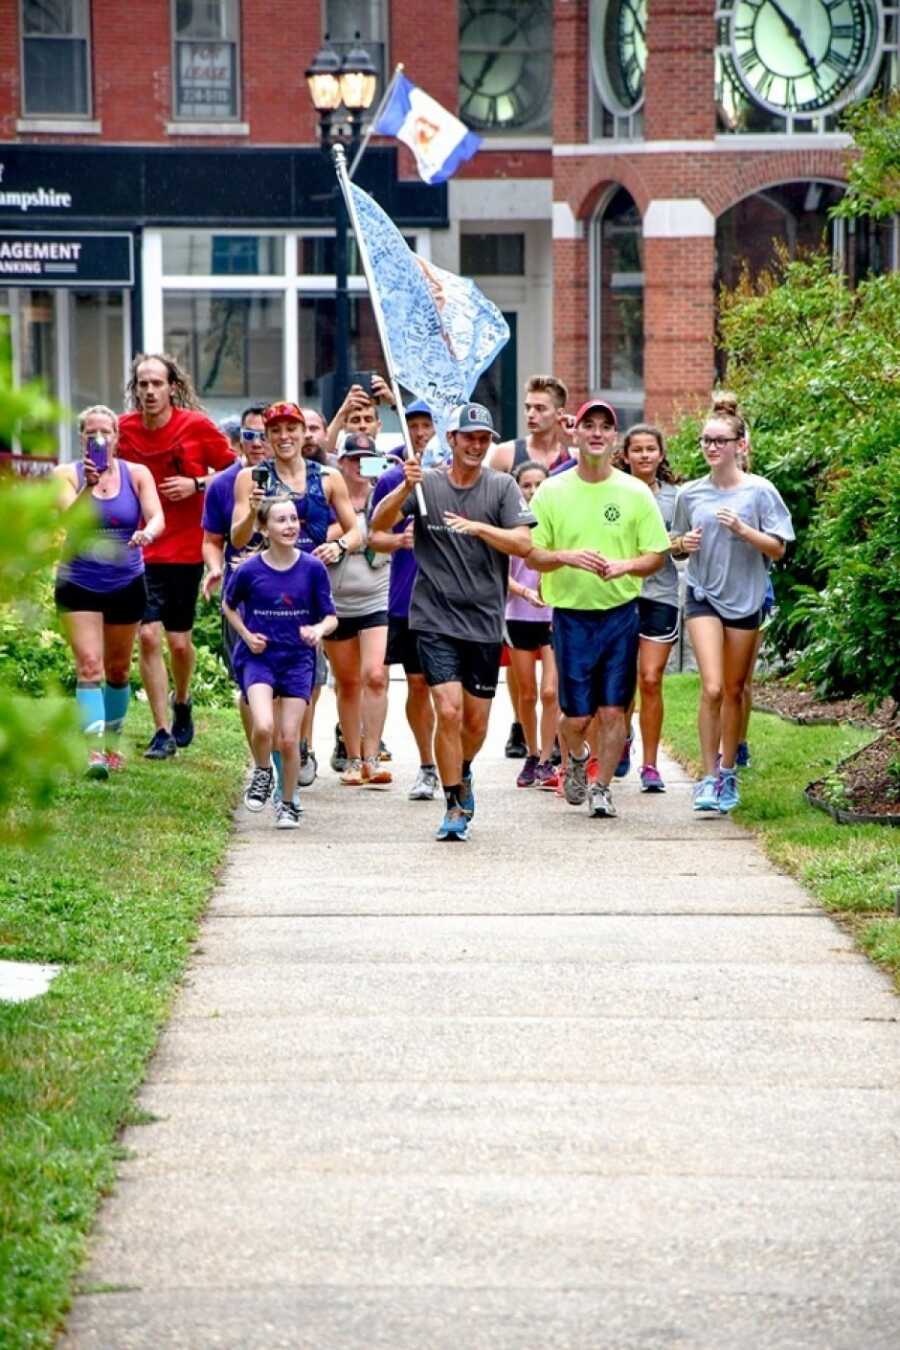
<path fill-rule="evenodd" d="M 59 566 L 55 599 L 76 659 L 76 701 L 92 748 L 88 775 L 124 768 L 117 744 L 131 697 L 131 653 L 147 591 L 142 548 L 166 526 L 152 474 L 116 456 L 119 418 L 111 408 L 78 416 L 82 459 L 59 464 L 61 505 L 88 497 L 97 536 Z"/>

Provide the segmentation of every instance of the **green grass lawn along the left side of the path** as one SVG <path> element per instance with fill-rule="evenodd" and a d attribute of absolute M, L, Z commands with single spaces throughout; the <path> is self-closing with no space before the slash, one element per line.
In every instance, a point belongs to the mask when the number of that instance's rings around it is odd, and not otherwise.
<path fill-rule="evenodd" d="M 50 992 L 0 1003 L 0 1345 L 50 1346 L 117 1131 L 217 878 L 246 751 L 236 711 L 197 711 L 197 740 L 148 763 L 132 710 L 128 770 L 63 782 L 49 834 L 4 848 L 0 956 L 63 967 Z"/>

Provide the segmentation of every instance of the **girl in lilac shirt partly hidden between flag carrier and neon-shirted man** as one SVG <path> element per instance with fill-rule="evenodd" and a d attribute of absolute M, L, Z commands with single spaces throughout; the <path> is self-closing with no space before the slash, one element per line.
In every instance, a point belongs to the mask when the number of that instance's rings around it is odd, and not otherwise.
<path fill-rule="evenodd" d="M 522 497 L 532 497 L 548 477 L 546 468 L 526 459 L 513 471 Z M 556 728 L 560 717 L 556 690 L 556 660 L 551 639 L 553 612 L 541 601 L 541 578 L 525 559 L 510 558 L 509 598 L 506 601 L 506 632 L 510 645 L 510 670 L 515 678 L 515 720 L 521 724 L 528 745 L 528 756 L 517 787 L 537 787 L 552 791 L 557 786 L 556 770 L 551 763 Z M 537 663 L 541 663 L 541 725 L 537 726 Z"/>

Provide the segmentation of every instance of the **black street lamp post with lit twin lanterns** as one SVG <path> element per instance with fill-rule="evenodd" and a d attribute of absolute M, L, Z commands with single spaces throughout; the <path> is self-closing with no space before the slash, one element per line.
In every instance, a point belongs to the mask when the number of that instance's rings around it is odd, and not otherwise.
<path fill-rule="evenodd" d="M 359 43 L 359 34 L 356 34 Z M 347 140 L 348 158 L 359 148 L 363 116 L 375 99 L 378 72 L 364 47 L 356 45 L 341 61 L 332 47 L 316 53 L 306 70 L 313 108 L 318 113 L 318 140 L 331 163 L 335 140 Z M 349 113 L 349 136 L 335 134 L 335 115 Z M 340 400 L 349 383 L 349 297 L 347 293 L 347 207 L 335 188 L 335 397 Z"/>

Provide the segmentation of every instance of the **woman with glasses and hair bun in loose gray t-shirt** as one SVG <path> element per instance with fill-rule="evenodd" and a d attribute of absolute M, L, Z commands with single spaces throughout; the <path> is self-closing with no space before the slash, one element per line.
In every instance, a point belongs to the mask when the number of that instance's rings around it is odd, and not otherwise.
<path fill-rule="evenodd" d="M 690 559 L 684 618 L 703 683 L 698 721 L 704 776 L 694 791 L 694 810 L 725 813 L 739 801 L 734 761 L 768 570 L 784 556 L 793 526 L 768 478 L 739 467 L 746 451 L 739 417 L 708 417 L 700 448 L 710 473 L 679 491 L 672 551 Z"/>

